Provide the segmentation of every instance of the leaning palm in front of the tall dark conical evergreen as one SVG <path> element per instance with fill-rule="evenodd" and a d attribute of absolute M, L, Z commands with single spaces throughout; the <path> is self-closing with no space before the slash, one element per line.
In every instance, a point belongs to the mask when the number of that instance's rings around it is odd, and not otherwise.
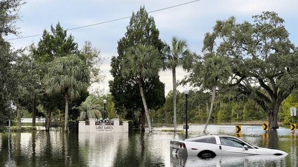
<path fill-rule="evenodd" d="M 144 95 L 143 83 L 146 79 L 158 76 L 162 67 L 160 53 L 153 46 L 137 44 L 129 48 L 122 61 L 122 74 L 125 77 L 136 77 L 139 84 L 140 94 L 148 122 L 149 132 L 152 132 L 149 111 Z M 145 129 L 142 121 L 141 128 Z"/>

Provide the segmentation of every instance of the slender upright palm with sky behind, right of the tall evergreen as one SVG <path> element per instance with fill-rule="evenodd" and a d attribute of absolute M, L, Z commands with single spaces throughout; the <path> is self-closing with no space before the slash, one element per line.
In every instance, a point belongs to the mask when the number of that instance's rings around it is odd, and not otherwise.
<path fill-rule="evenodd" d="M 188 49 L 186 39 L 179 39 L 173 36 L 171 45 L 165 42 L 166 46 L 163 48 L 164 68 L 172 70 L 173 81 L 173 111 L 174 111 L 174 131 L 177 131 L 176 121 L 176 99 L 177 99 L 177 85 L 176 85 L 176 67 L 182 66 L 183 69 L 188 69 L 193 63 L 193 55 Z"/>

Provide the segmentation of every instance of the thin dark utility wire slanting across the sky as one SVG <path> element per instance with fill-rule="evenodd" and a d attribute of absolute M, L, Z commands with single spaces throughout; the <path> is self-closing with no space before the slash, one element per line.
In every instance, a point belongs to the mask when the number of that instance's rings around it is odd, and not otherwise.
<path fill-rule="evenodd" d="M 186 2 L 186 3 L 181 3 L 181 4 L 178 4 L 178 5 L 174 5 L 174 6 L 170 6 L 170 7 L 166 7 L 166 8 L 158 9 L 158 10 L 153 10 L 153 11 L 150 11 L 150 12 L 147 12 L 147 13 L 153 13 L 153 12 L 157 12 L 157 11 L 161 11 L 161 10 L 166 10 L 166 9 L 169 9 L 169 8 L 173 8 L 173 7 L 177 7 L 177 6 L 182 6 L 182 5 L 185 5 L 185 4 L 188 4 L 188 3 L 193 3 L 193 2 L 196 2 L 196 1 L 199 1 L 199 0 L 194 0 L 194 1 Z M 135 15 L 134 17 L 136 17 L 136 16 L 140 16 L 140 15 L 142 15 L 142 14 Z M 119 20 L 124 20 L 124 19 L 131 18 L 131 17 L 132 17 L 132 16 L 124 17 L 124 18 L 120 18 L 120 19 L 115 19 L 115 20 L 110 20 L 110 21 L 106 21 L 106 22 L 101 22 L 101 23 L 97 23 L 97 24 L 93 24 L 93 25 L 87 25 L 87 26 L 82 26 L 82 27 L 77 27 L 77 28 L 69 28 L 69 29 L 66 29 L 66 30 L 73 30 L 73 29 L 79 29 L 79 28 L 86 28 L 86 27 L 91 27 L 91 26 L 101 25 L 101 24 L 105 24 L 105 23 L 116 22 L 116 21 L 119 21 Z M 51 33 L 51 32 L 50 32 L 50 33 Z M 22 39 L 22 38 L 30 38 L 30 37 L 34 37 L 34 36 L 40 36 L 40 35 L 43 35 L 43 33 L 42 33 L 42 34 L 36 34 L 36 35 L 30 35 L 30 36 L 24 36 L 24 37 L 18 37 L 18 38 L 6 39 L 5 41 L 10 41 L 10 40 L 15 40 L 15 39 Z"/>

